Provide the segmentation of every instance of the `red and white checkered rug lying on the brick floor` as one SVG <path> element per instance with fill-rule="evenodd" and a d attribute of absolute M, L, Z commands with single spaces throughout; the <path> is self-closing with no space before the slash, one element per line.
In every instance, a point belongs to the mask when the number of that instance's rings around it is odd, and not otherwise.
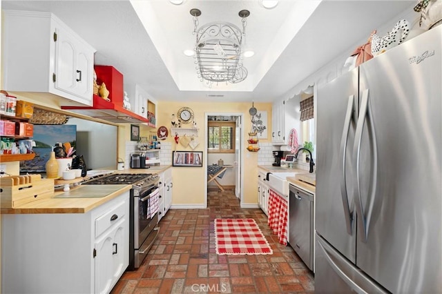
<path fill-rule="evenodd" d="M 255 219 L 215 219 L 216 253 L 273 254 Z"/>

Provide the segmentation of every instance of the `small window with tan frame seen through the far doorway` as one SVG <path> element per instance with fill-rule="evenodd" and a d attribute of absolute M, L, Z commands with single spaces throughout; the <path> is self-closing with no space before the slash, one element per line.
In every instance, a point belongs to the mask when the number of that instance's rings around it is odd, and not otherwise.
<path fill-rule="evenodd" d="M 235 122 L 208 121 L 207 152 L 235 153 Z"/>

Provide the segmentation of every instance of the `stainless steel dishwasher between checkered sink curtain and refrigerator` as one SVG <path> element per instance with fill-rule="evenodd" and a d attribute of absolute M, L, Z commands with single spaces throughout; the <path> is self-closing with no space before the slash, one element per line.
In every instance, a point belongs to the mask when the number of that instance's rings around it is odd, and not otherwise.
<path fill-rule="evenodd" d="M 314 197 L 289 185 L 289 244 L 313 271 L 314 265 Z"/>

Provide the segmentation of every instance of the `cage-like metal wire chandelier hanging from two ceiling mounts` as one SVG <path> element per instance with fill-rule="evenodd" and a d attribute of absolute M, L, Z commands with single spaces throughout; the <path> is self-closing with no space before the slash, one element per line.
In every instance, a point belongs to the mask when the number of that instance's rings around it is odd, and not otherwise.
<path fill-rule="evenodd" d="M 229 82 L 232 84 L 244 81 L 247 69 L 242 66 L 241 46 L 245 40 L 247 17 L 249 10 L 241 10 L 238 14 L 242 19 L 242 31 L 233 23 L 207 23 L 198 28 L 199 9 L 190 11 L 193 16 L 193 35 L 196 35 L 195 64 L 198 77 L 209 86 L 213 82 Z"/>

